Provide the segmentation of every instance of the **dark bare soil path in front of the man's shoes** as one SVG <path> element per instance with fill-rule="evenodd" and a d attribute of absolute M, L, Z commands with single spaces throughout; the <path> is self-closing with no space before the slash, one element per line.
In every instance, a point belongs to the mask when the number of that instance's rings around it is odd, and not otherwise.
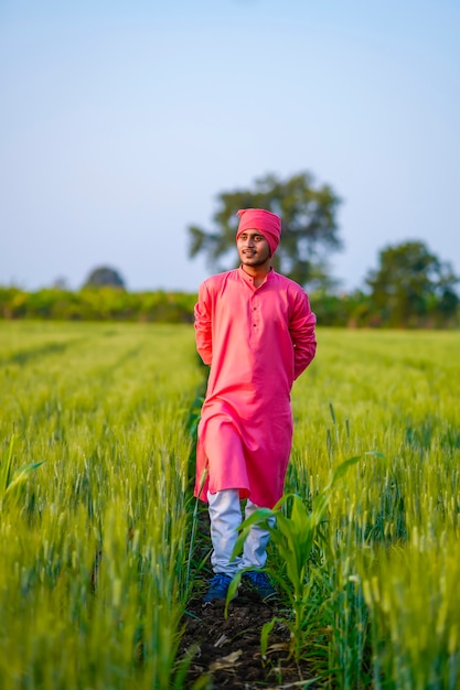
<path fill-rule="evenodd" d="M 197 645 L 189 673 L 188 687 L 208 676 L 213 690 L 232 688 L 302 688 L 311 678 L 307 665 L 288 660 L 289 629 L 277 625 L 269 637 L 266 659 L 260 655 L 260 632 L 265 623 L 282 615 L 277 604 L 263 603 L 257 594 L 243 586 L 224 615 L 224 605 L 203 608 L 201 600 L 191 602 L 184 617 L 185 632 L 180 656 Z M 310 684 L 309 688 L 318 688 Z"/>

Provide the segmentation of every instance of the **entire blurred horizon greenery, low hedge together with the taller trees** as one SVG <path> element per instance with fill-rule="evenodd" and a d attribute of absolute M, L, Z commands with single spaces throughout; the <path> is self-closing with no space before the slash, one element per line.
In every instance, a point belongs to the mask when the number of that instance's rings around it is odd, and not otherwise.
<path fill-rule="evenodd" d="M 304 287 L 318 323 L 349 327 L 447 328 L 460 325 L 460 279 L 421 241 L 382 249 L 378 266 L 368 271 L 363 290 L 340 293 L 329 258 L 342 248 L 335 219 L 341 200 L 329 185 L 317 185 L 310 173 L 280 180 L 266 175 L 253 190 L 217 197 L 214 227 L 191 225 L 189 254 L 202 254 L 212 271 L 236 266 L 235 234 L 239 208 L 267 208 L 282 218 L 281 244 L 274 268 Z M 195 294 L 129 292 L 114 268 L 94 269 L 82 290 L 64 287 L 38 292 L 0 288 L 0 319 L 117 320 L 192 323 Z"/>

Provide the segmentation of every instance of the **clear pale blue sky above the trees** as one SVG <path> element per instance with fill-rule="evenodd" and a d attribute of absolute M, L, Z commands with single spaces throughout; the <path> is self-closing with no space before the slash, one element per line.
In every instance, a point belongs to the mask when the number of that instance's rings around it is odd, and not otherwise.
<path fill-rule="evenodd" d="M 0 0 L 0 284 L 195 291 L 186 227 L 302 171 L 344 289 L 406 240 L 460 274 L 459 36 L 459 0 Z"/>

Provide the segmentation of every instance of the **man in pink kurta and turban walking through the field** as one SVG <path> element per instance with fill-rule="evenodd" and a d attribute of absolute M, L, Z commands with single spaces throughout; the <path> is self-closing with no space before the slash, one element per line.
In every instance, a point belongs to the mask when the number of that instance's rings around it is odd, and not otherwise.
<path fill-rule="evenodd" d="M 271 258 L 281 219 L 261 208 L 238 211 L 240 267 L 213 276 L 199 290 L 196 348 L 211 365 L 199 424 L 195 496 L 207 500 L 214 576 L 204 604 L 226 597 L 245 570 L 261 599 L 275 594 L 260 572 L 269 532 L 254 527 L 243 556 L 232 560 L 242 522 L 282 496 L 292 445 L 290 391 L 315 354 L 315 316 L 304 291 L 275 272 Z"/>

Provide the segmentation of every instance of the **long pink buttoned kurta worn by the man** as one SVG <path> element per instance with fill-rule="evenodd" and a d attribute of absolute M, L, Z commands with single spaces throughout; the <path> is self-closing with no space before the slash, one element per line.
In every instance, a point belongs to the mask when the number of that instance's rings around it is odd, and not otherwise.
<path fill-rule="evenodd" d="M 195 496 L 206 500 L 207 490 L 238 488 L 242 498 L 269 508 L 282 496 L 292 445 L 290 391 L 314 357 L 314 323 L 304 291 L 274 270 L 258 288 L 242 268 L 200 285 L 196 348 L 211 370 Z"/>

